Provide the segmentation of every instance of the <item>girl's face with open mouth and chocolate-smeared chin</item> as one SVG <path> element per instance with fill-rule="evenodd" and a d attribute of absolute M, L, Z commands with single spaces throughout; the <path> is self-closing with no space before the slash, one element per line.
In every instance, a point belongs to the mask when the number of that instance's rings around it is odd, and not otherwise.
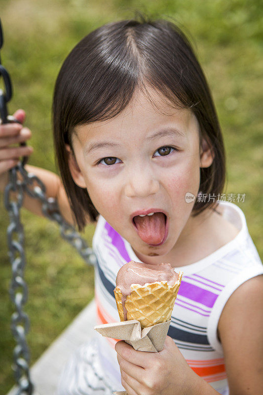
<path fill-rule="evenodd" d="M 118 116 L 75 128 L 70 169 L 98 212 L 147 263 L 171 258 L 180 238 L 195 225 L 190 216 L 200 183 L 200 167 L 212 163 L 198 122 L 151 91 L 159 110 L 138 92 Z M 69 150 L 69 147 L 67 147 Z M 138 214 L 163 212 L 147 217 Z M 197 217 L 196 217 L 197 218 Z M 161 256 L 157 258 L 157 256 Z M 155 257 L 155 258 L 154 258 Z"/>

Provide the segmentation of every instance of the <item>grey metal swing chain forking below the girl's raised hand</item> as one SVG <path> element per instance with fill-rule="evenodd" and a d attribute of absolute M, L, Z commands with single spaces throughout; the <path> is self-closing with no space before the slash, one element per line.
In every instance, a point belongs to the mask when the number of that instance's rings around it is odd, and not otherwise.
<path fill-rule="evenodd" d="M 0 21 L 0 49 L 2 44 L 3 35 Z M 7 103 L 12 97 L 12 85 L 8 72 L 1 65 L 1 60 L 0 77 L 3 77 L 5 88 L 5 92 L 0 89 L 1 123 L 17 122 L 15 118 L 7 115 Z M 21 145 L 25 145 L 25 143 L 21 143 Z M 75 247 L 87 264 L 95 265 L 96 263 L 96 256 L 92 249 L 88 247 L 86 241 L 80 237 L 75 228 L 62 217 L 57 201 L 54 198 L 46 197 L 46 189 L 42 181 L 34 174 L 28 173 L 24 168 L 26 161 L 27 158 L 24 157 L 17 166 L 8 171 L 9 182 L 4 191 L 4 205 L 10 219 L 7 228 L 7 244 L 12 268 L 9 293 L 15 307 L 15 312 L 11 316 L 11 330 L 17 343 L 13 354 L 13 370 L 18 385 L 16 395 L 23 393 L 32 395 L 34 390 L 30 378 L 30 355 L 26 340 L 29 331 L 29 317 L 23 311 L 28 298 L 28 288 L 24 279 L 26 266 L 24 229 L 20 221 L 20 208 L 23 204 L 24 193 L 41 201 L 43 214 L 59 224 L 61 236 Z M 18 174 L 20 174 L 21 180 L 19 180 Z"/>

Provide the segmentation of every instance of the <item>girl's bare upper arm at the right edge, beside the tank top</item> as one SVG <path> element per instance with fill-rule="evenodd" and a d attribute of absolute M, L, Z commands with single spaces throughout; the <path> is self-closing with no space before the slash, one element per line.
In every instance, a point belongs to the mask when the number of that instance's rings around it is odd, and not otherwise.
<path fill-rule="evenodd" d="M 240 285 L 219 320 L 230 395 L 258 395 L 263 389 L 263 276 Z"/>

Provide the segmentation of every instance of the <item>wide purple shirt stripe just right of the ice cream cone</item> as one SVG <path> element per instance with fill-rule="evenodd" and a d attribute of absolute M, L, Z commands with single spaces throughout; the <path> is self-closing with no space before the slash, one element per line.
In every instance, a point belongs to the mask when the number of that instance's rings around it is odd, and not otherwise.
<path fill-rule="evenodd" d="M 194 302 L 201 303 L 207 307 L 213 307 L 218 297 L 213 292 L 207 291 L 196 285 L 189 284 L 186 281 L 181 282 L 178 295 L 185 296 L 186 298 L 193 300 Z"/>

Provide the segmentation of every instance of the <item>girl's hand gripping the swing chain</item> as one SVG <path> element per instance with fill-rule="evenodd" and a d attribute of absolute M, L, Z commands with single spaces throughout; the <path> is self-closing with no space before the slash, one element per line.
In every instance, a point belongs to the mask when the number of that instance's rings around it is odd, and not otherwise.
<path fill-rule="evenodd" d="M 25 112 L 17 110 L 14 117 L 24 122 Z M 23 127 L 20 123 L 0 124 L 0 189 L 4 188 L 7 182 L 7 171 L 14 167 L 19 158 L 30 156 L 33 152 L 32 147 L 14 146 L 17 143 L 23 143 L 30 139 L 31 131 L 27 127 Z"/>

